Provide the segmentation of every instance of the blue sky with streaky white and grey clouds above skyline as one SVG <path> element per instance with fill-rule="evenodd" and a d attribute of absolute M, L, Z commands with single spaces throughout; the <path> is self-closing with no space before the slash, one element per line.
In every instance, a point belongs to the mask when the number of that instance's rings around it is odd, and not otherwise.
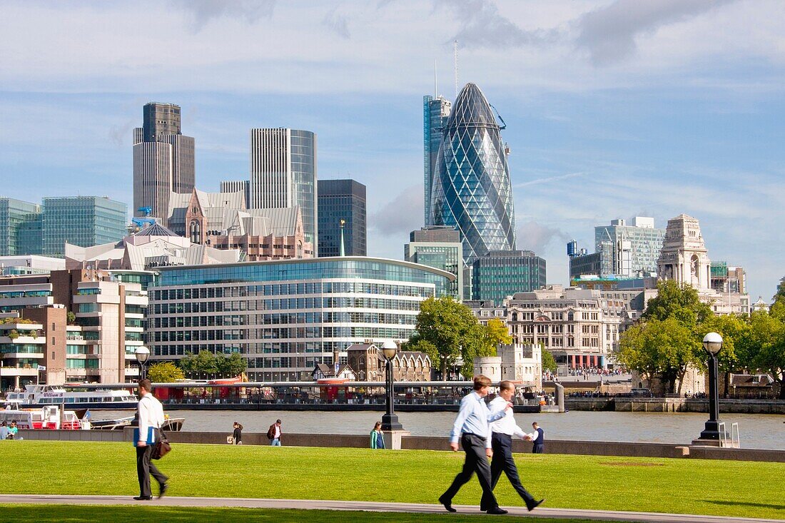
<path fill-rule="evenodd" d="M 249 130 L 318 136 L 367 185 L 368 254 L 422 226 L 422 97 L 474 82 L 507 124 L 517 247 L 700 221 L 752 301 L 785 276 L 785 3 L 777 0 L 0 0 L 0 195 L 132 202 L 133 127 L 179 104 L 196 185 L 249 176 Z"/>

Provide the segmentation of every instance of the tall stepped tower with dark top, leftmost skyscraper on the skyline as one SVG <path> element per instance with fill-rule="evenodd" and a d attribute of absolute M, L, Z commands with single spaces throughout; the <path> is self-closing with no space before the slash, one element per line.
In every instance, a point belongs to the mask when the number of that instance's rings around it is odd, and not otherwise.
<path fill-rule="evenodd" d="M 144 127 L 133 130 L 133 215 L 166 225 L 170 192 L 190 193 L 195 183 L 194 139 L 180 127 L 180 106 L 144 105 Z"/>

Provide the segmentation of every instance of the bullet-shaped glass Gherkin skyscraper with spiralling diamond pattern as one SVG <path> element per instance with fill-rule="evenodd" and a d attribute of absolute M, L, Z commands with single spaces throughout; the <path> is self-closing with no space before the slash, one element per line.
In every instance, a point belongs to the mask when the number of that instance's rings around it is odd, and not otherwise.
<path fill-rule="evenodd" d="M 431 189 L 433 225 L 461 232 L 464 262 L 515 249 L 513 188 L 491 105 L 467 83 L 442 133 Z"/>

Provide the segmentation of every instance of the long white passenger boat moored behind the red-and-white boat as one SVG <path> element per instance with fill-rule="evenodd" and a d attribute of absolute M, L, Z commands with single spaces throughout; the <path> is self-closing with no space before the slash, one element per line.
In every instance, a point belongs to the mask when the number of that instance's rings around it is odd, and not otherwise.
<path fill-rule="evenodd" d="M 65 404 L 68 408 L 119 410 L 137 408 L 139 398 L 127 390 L 66 390 L 57 385 L 27 385 L 24 387 L 24 392 L 6 394 L 5 402 L 18 404 L 21 408 Z"/>

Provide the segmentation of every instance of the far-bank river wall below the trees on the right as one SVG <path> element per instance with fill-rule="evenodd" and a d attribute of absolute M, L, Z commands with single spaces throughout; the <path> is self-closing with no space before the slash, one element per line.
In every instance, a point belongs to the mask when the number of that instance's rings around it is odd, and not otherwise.
<path fill-rule="evenodd" d="M 708 412 L 709 400 L 663 397 L 568 397 L 571 411 Z M 783 400 L 720 400 L 726 414 L 785 414 Z"/>

